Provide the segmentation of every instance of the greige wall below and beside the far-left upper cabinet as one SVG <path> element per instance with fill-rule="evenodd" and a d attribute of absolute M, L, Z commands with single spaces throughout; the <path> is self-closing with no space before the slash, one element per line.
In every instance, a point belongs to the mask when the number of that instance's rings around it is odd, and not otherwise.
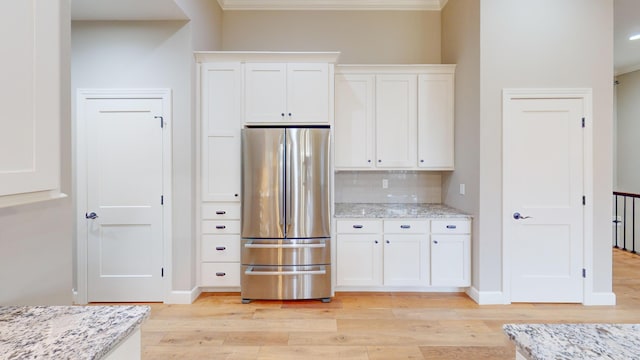
<path fill-rule="evenodd" d="M 68 56 L 70 7 L 68 0 L 60 3 L 61 51 L 48 55 L 60 56 L 60 93 L 51 96 L 59 97 L 61 112 L 51 115 L 60 117 L 61 189 L 73 196 Z M 0 19 L 5 16 L 14 15 L 0 14 Z M 71 198 L 0 209 L 0 305 L 71 304 L 72 209 Z"/>

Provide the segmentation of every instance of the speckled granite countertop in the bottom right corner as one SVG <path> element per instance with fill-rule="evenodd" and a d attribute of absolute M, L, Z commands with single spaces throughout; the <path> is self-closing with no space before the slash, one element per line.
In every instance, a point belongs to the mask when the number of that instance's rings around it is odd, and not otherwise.
<path fill-rule="evenodd" d="M 507 324 L 529 360 L 640 359 L 640 324 Z"/>

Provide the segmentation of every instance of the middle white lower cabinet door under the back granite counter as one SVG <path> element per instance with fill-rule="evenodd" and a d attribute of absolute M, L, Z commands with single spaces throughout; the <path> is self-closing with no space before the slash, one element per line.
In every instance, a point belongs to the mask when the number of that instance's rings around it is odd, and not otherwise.
<path fill-rule="evenodd" d="M 427 235 L 384 235 L 384 284 L 428 284 Z"/>

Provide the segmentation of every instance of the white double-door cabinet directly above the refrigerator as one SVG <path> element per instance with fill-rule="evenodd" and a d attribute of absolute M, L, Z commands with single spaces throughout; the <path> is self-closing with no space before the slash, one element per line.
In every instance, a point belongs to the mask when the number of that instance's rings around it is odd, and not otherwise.
<path fill-rule="evenodd" d="M 327 63 L 245 64 L 246 123 L 329 123 Z"/>

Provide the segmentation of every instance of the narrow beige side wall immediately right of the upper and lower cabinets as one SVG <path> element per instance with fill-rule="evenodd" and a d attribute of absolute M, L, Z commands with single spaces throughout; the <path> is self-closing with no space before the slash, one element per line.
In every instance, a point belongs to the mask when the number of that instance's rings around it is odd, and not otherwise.
<path fill-rule="evenodd" d="M 472 214 L 479 233 L 480 203 L 480 3 L 449 0 L 442 11 L 442 61 L 456 65 L 455 164 L 444 173 L 443 202 Z M 460 195 L 465 184 L 465 195 Z M 472 283 L 479 287 L 480 241 L 472 238 Z M 500 253 L 495 254 L 499 257 Z"/>

